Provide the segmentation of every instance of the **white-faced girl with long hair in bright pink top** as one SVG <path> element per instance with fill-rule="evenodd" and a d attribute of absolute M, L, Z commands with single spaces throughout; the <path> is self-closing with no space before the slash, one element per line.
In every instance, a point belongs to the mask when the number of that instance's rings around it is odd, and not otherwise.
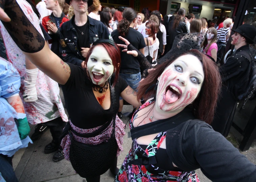
<path fill-rule="evenodd" d="M 210 57 L 212 57 L 215 62 L 217 61 L 217 51 L 218 46 L 216 44 L 217 30 L 214 27 L 210 27 L 206 33 L 206 39 L 202 44 L 203 51 Z"/>

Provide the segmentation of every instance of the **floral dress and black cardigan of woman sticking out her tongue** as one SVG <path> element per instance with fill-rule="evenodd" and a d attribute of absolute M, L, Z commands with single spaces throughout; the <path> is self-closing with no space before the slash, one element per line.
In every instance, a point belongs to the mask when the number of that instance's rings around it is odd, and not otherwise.
<path fill-rule="evenodd" d="M 199 182 L 194 171 L 199 168 L 212 181 L 255 180 L 255 165 L 210 125 L 194 119 L 189 108 L 171 118 L 135 127 L 133 120 L 137 112 L 154 103 L 152 99 L 143 104 L 130 120 L 132 148 L 120 167 L 116 182 Z M 148 146 L 137 143 L 139 137 L 156 133 L 158 135 Z M 166 149 L 163 149 L 161 144 L 165 139 Z M 241 170 L 245 168 L 247 170 Z"/>

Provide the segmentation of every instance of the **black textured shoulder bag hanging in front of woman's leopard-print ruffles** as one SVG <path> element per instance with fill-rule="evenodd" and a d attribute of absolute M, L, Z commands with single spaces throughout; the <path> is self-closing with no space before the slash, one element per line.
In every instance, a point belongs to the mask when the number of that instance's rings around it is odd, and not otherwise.
<path fill-rule="evenodd" d="M 116 158 L 118 145 L 115 138 L 115 120 L 117 113 L 117 104 L 116 104 L 116 95 L 115 88 L 111 88 L 111 99 L 113 106 L 113 131 L 111 134 L 111 138 L 106 143 L 101 143 L 99 145 L 87 145 L 84 143 L 80 143 L 74 140 L 72 133 L 79 137 L 89 138 L 95 137 L 104 131 L 104 128 L 108 128 L 109 124 L 104 124 L 99 130 L 97 130 L 97 134 L 79 134 L 71 129 L 69 131 L 69 136 L 71 138 L 70 150 L 69 150 L 69 158 L 72 167 L 74 170 L 83 178 L 95 177 L 104 174 L 111 167 L 114 159 Z M 100 133 L 99 133 L 100 131 Z"/>

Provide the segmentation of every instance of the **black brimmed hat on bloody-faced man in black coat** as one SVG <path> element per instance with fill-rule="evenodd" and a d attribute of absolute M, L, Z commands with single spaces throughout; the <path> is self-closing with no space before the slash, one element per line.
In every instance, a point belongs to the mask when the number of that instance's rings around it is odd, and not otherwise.
<path fill-rule="evenodd" d="M 232 30 L 232 31 L 241 34 L 243 37 L 246 38 L 248 43 L 253 44 L 253 42 L 254 42 L 253 39 L 256 36 L 256 28 L 254 26 L 249 25 L 249 24 L 243 24 L 243 25 L 237 27 L 237 29 Z"/>

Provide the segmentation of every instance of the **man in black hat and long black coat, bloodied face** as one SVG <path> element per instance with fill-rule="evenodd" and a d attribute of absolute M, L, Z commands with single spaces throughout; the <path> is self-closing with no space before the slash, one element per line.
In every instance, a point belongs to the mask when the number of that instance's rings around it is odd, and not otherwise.
<path fill-rule="evenodd" d="M 228 136 L 232 125 L 233 116 L 237 106 L 238 96 L 245 93 L 249 85 L 252 60 L 249 44 L 253 43 L 256 29 L 252 25 L 239 26 L 231 36 L 231 44 L 235 46 L 235 52 L 219 68 L 222 76 L 222 96 L 217 104 L 216 113 L 212 122 L 212 128 Z"/>

